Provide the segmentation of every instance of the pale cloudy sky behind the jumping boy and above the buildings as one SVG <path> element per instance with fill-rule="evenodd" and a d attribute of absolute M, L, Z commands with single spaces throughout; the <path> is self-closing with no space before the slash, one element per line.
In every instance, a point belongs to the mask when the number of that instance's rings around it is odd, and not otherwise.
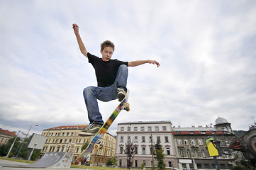
<path fill-rule="evenodd" d="M 233 130 L 256 120 L 256 1 L 0 1 L 0 128 L 41 133 L 87 124 L 82 91 L 96 86 L 94 69 L 79 52 L 157 60 L 129 67 L 130 112 L 117 123 L 170 120 L 181 127 L 215 124 Z M 118 101 L 99 102 L 104 120 Z M 34 125 L 38 124 L 38 127 Z"/>

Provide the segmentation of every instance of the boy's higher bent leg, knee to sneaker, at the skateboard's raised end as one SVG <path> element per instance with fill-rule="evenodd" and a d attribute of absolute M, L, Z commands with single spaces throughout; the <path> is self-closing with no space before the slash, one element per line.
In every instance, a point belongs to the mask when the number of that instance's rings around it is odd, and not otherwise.
<path fill-rule="evenodd" d="M 123 64 L 119 67 L 116 80 L 115 80 L 116 88 L 118 90 L 118 101 L 122 101 L 123 98 L 126 96 L 127 79 L 128 79 L 128 67 L 125 64 Z"/>

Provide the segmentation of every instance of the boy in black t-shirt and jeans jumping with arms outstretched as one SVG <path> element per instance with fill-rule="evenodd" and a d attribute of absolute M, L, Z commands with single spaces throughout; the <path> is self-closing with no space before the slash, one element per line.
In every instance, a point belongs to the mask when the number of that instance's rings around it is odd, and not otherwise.
<path fill-rule="evenodd" d="M 101 58 L 91 55 L 82 42 L 79 35 L 79 27 L 75 23 L 72 26 L 77 37 L 79 49 L 94 67 L 98 82 L 97 87 L 89 86 L 84 89 L 84 101 L 87 106 L 90 124 L 86 130 L 79 132 L 79 135 L 95 135 L 104 124 L 99 112 L 97 99 L 100 101 L 112 101 L 118 98 L 118 101 L 122 101 L 127 91 L 127 67 L 135 67 L 145 63 L 156 64 L 159 67 L 160 64 L 155 60 L 138 60 L 133 62 L 111 60 L 115 46 L 109 40 L 101 43 Z"/>

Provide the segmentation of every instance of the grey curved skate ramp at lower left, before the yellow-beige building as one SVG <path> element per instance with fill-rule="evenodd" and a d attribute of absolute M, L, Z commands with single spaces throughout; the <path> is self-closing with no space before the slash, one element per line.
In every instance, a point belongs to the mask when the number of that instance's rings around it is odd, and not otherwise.
<path fill-rule="evenodd" d="M 33 164 L 28 165 L 15 165 L 4 167 L 18 167 L 18 168 L 70 168 L 73 154 L 65 152 L 47 152 L 41 159 Z"/>

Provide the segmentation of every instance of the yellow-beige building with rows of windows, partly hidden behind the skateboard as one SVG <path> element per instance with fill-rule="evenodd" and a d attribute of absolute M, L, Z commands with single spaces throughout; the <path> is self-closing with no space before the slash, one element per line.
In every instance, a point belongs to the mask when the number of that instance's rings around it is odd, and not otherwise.
<path fill-rule="evenodd" d="M 86 128 L 87 125 L 69 125 L 43 130 L 42 135 L 48 138 L 40 157 L 43 157 L 46 152 L 72 152 L 74 153 L 74 162 L 82 153 L 84 143 L 90 142 L 92 139 L 92 137 L 78 136 L 78 132 Z M 92 152 L 91 164 L 106 164 L 108 159 L 115 156 L 116 138 L 106 132 L 101 142 L 104 147 Z"/>

